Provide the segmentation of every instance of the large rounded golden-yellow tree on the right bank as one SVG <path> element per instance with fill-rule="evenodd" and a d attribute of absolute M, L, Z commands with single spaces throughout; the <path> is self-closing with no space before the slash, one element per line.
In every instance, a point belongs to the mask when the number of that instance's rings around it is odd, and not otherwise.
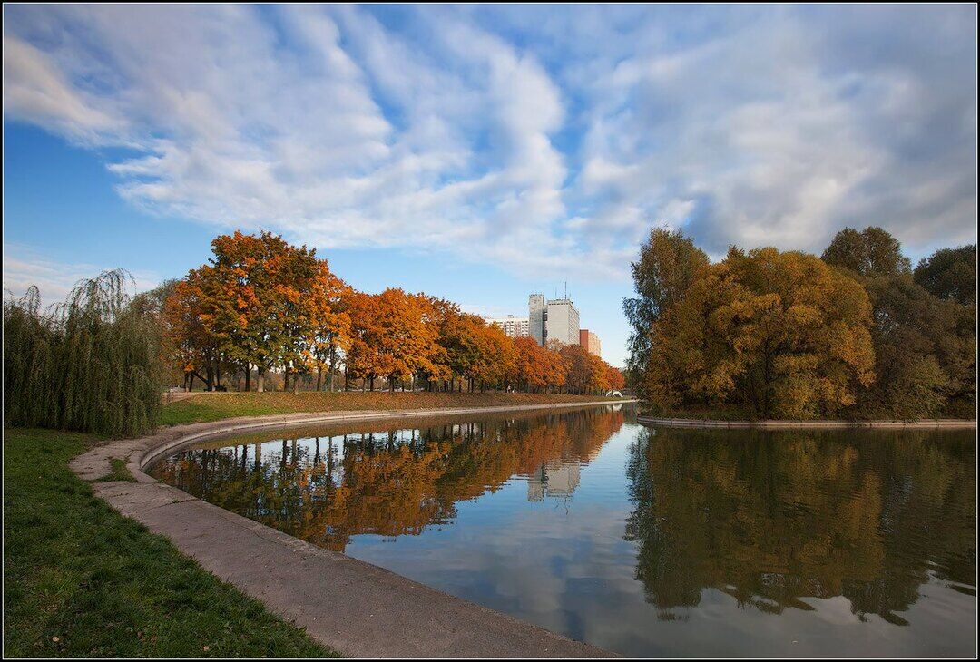
<path fill-rule="evenodd" d="M 803 253 L 731 249 L 656 324 L 642 390 L 664 407 L 832 414 L 874 380 L 870 326 L 867 294 L 843 272 Z"/>

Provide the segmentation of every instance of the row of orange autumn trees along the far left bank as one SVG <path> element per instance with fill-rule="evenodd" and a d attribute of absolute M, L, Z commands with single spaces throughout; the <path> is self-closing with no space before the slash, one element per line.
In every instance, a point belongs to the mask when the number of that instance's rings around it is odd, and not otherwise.
<path fill-rule="evenodd" d="M 512 339 L 456 304 L 389 288 L 358 292 L 306 246 L 263 232 L 212 242 L 214 256 L 163 286 L 164 355 L 206 388 L 240 374 L 251 390 L 275 371 L 283 388 L 334 390 L 342 377 L 428 390 L 505 389 L 586 394 L 620 389 L 619 370 L 578 345 Z"/>

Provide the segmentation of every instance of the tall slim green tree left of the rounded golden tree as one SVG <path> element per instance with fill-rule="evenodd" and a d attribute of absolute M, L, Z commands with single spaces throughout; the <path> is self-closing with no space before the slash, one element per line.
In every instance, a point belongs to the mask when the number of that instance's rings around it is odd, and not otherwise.
<path fill-rule="evenodd" d="M 708 256 L 680 230 L 655 227 L 630 264 L 636 296 L 624 299 L 630 329 L 627 367 L 642 370 L 651 347 L 651 331 L 664 310 L 676 304 L 709 263 Z"/>

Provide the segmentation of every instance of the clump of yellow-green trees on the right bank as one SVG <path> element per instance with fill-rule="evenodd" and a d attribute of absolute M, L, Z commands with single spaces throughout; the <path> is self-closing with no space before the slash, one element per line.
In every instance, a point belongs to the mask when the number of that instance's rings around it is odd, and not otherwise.
<path fill-rule="evenodd" d="M 629 371 L 663 411 L 749 417 L 972 415 L 976 246 L 913 270 L 898 240 L 839 232 L 822 258 L 731 248 L 707 255 L 655 228 L 633 263 Z"/>

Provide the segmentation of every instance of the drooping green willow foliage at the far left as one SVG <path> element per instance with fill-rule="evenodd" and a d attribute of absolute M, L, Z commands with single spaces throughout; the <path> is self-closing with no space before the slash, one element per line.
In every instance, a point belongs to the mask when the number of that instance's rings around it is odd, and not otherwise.
<path fill-rule="evenodd" d="M 4 422 L 111 437 L 153 428 L 161 402 L 155 315 L 105 271 L 42 310 L 31 287 L 3 307 Z"/>

